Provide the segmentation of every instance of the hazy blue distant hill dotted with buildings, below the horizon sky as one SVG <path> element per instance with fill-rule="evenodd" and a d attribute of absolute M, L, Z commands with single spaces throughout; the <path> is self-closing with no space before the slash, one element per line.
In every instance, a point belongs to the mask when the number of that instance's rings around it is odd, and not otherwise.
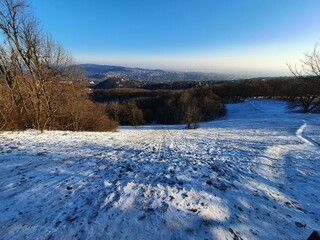
<path fill-rule="evenodd" d="M 143 68 L 129 68 L 121 66 L 80 64 L 88 79 L 101 81 L 108 78 L 123 78 L 126 80 L 166 82 L 166 81 L 217 81 L 233 80 L 239 77 L 232 74 L 201 73 L 201 72 L 175 72 L 164 70 L 151 70 Z"/>

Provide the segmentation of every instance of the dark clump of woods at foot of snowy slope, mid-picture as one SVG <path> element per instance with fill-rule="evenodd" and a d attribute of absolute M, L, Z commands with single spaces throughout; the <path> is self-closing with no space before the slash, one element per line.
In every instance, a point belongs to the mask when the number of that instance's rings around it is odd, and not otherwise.
<path fill-rule="evenodd" d="M 110 93 L 113 93 L 113 101 L 107 103 L 106 111 L 111 119 L 123 125 L 183 123 L 191 129 L 197 128 L 200 121 L 212 120 L 226 112 L 221 99 L 210 88 L 180 91 L 116 89 L 99 93 L 92 97 L 98 96 L 101 100 L 104 93 L 110 99 Z"/>

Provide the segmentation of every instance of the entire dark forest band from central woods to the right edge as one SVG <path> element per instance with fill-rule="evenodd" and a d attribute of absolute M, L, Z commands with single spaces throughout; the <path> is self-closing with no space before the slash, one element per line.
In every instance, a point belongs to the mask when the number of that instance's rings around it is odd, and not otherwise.
<path fill-rule="evenodd" d="M 164 87 L 158 83 L 160 89 L 154 90 L 93 88 L 90 96 L 95 102 L 106 104 L 108 116 L 119 124 L 137 126 L 144 123 L 186 123 L 187 128 L 193 128 L 201 121 L 223 116 L 226 113 L 225 103 L 242 102 L 248 98 L 288 100 L 298 111 L 318 113 L 318 82 L 315 77 L 239 80 L 219 82 L 211 87 L 194 84 L 184 90 L 170 89 L 178 83 L 164 83 Z M 169 89 L 165 89 L 168 86 Z"/>

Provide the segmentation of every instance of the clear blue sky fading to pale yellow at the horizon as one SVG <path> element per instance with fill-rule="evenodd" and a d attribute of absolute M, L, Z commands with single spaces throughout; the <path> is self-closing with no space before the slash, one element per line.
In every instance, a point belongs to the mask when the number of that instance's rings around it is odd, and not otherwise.
<path fill-rule="evenodd" d="M 320 39 L 319 0 L 29 0 L 76 62 L 286 74 Z"/>

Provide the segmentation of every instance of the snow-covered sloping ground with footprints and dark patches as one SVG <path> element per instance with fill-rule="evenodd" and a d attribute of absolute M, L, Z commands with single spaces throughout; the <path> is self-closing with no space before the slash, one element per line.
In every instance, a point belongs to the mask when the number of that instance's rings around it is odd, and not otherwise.
<path fill-rule="evenodd" d="M 320 116 L 282 101 L 116 133 L 0 133 L 0 239 L 307 239 Z"/>

